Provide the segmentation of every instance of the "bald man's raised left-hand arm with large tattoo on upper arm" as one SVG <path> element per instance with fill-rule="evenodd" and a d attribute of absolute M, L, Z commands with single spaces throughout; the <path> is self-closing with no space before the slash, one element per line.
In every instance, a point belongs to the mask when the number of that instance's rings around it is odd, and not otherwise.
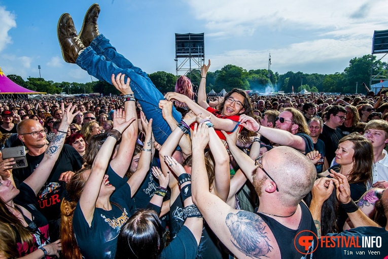
<path fill-rule="evenodd" d="M 207 125 L 196 124 L 192 136 L 191 171 L 194 204 L 211 230 L 236 257 L 280 257 L 275 238 L 259 215 L 232 209 L 219 197 L 207 191 L 209 183 L 204 161 L 204 146 L 207 143 Z"/>

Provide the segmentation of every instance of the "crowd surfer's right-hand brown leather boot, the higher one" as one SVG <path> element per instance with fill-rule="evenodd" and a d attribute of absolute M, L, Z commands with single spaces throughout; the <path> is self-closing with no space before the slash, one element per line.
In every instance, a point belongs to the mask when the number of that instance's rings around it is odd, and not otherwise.
<path fill-rule="evenodd" d="M 99 13 L 100 6 L 98 4 L 93 4 L 85 14 L 84 23 L 82 23 L 82 28 L 78 35 L 85 47 L 88 47 L 94 38 L 100 35 L 97 25 Z"/>

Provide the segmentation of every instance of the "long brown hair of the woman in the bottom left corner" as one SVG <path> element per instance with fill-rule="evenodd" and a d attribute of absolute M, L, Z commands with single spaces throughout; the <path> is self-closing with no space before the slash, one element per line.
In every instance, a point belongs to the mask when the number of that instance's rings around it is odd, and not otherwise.
<path fill-rule="evenodd" d="M 19 257 L 16 245 L 17 236 L 20 237 L 22 244 L 27 243 L 27 249 L 32 245 L 32 233 L 24 228 L 20 219 L 12 214 L 8 205 L 0 199 L 0 240 L 2 240 L 0 251 L 2 255 L 8 258 Z"/>

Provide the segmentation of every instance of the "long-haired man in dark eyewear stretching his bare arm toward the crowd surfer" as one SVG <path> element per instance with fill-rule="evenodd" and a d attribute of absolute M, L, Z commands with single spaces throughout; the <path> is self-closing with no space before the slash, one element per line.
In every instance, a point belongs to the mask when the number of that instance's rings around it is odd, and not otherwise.
<path fill-rule="evenodd" d="M 240 123 L 247 130 L 261 134 L 262 137 L 281 146 L 293 147 L 307 154 L 313 150 L 308 125 L 303 114 L 295 108 L 286 108 L 276 117 L 275 128 L 261 126 L 250 116 L 241 115 Z"/>

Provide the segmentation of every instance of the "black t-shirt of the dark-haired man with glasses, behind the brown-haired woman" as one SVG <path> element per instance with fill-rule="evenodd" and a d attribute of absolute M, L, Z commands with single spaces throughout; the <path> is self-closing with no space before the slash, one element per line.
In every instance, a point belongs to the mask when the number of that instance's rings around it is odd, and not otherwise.
<path fill-rule="evenodd" d="M 326 149 L 325 155 L 329 165 L 331 164 L 331 161 L 335 157 L 335 151 L 338 148 L 338 142 L 340 139 L 342 139 L 342 137 L 343 137 L 343 134 L 339 127 L 333 130 L 331 127 L 324 124 L 323 131 L 319 136 L 319 139 L 321 139 L 325 143 L 325 149 Z"/>

